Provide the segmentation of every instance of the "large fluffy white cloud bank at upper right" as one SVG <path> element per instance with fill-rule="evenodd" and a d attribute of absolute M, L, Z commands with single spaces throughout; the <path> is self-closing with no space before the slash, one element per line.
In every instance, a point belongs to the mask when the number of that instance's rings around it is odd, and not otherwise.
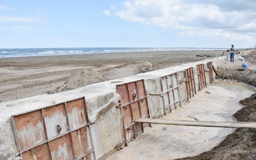
<path fill-rule="evenodd" d="M 190 36 L 252 40 L 256 33 L 256 10 L 239 10 L 237 6 L 227 11 L 214 1 L 203 4 L 188 0 L 125 0 L 116 16 L 125 21 L 181 29 Z"/>

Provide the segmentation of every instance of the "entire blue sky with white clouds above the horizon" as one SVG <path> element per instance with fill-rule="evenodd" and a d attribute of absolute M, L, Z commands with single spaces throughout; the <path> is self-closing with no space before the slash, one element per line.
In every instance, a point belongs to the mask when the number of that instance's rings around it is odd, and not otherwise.
<path fill-rule="evenodd" d="M 0 0 L 0 48 L 249 48 L 255 42 L 255 0 Z"/>

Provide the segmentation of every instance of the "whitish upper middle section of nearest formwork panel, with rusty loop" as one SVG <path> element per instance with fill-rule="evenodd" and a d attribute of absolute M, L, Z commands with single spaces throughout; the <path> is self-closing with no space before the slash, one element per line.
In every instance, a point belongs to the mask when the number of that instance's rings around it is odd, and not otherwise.
<path fill-rule="evenodd" d="M 65 104 L 57 104 L 43 109 L 48 139 L 68 132 Z"/>

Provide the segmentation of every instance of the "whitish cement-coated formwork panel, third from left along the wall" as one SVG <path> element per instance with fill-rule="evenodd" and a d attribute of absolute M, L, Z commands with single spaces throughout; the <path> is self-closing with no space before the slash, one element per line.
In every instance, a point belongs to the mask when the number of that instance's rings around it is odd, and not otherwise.
<path fill-rule="evenodd" d="M 166 115 L 181 103 L 177 73 L 161 77 L 160 82 L 163 92 L 164 114 Z"/>

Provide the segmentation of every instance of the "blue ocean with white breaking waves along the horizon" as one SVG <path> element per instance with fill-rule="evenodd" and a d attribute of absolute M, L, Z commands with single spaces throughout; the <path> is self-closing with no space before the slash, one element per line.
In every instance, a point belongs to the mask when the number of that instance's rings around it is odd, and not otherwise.
<path fill-rule="evenodd" d="M 192 50 L 225 50 L 224 48 L 134 48 L 134 47 L 95 47 L 95 48 L 13 48 L 0 49 L 0 58 L 28 57 L 46 55 L 91 54 L 91 53 L 116 53 L 116 52 L 154 52 L 154 51 L 192 51 Z"/>

